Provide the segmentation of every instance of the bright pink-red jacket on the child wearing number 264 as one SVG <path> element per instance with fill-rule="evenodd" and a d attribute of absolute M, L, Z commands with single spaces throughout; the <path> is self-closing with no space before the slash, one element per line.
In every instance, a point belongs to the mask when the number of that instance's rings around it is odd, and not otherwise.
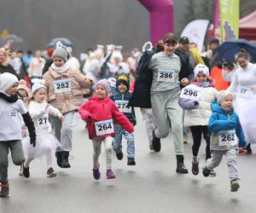
<path fill-rule="evenodd" d="M 79 108 L 79 113 L 81 118 L 87 122 L 87 128 L 89 132 L 89 138 L 92 139 L 96 137 L 95 122 L 112 119 L 120 124 L 126 131 L 132 133 L 134 131 L 133 125 L 125 117 L 123 112 L 119 112 L 115 103 L 107 96 L 105 99 L 100 100 L 93 95 L 90 101 L 84 103 L 83 106 Z M 114 136 L 114 133 L 108 135 L 102 135 L 104 137 Z"/>

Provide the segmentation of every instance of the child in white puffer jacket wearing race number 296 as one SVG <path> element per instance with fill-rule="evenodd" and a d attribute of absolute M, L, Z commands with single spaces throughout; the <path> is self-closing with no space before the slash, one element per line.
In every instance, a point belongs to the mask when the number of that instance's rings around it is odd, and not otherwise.
<path fill-rule="evenodd" d="M 215 101 L 218 95 L 214 84 L 209 80 L 209 68 L 203 64 L 198 64 L 194 69 L 195 82 L 190 83 L 182 89 L 179 105 L 186 110 L 184 117 L 184 126 L 190 127 L 193 136 L 192 146 L 192 173 L 194 176 L 199 173 L 199 148 L 201 147 L 201 135 L 207 142 L 206 160 L 211 158 L 210 137 L 207 124 L 211 116 L 211 103 Z M 216 176 L 211 171 L 212 176 Z"/>

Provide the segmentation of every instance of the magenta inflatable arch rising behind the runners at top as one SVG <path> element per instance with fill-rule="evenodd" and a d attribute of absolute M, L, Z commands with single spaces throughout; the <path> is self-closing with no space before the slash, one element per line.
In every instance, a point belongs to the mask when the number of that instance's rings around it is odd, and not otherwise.
<path fill-rule="evenodd" d="M 156 44 L 167 32 L 173 32 L 172 0 L 138 0 L 150 14 L 150 40 Z"/>

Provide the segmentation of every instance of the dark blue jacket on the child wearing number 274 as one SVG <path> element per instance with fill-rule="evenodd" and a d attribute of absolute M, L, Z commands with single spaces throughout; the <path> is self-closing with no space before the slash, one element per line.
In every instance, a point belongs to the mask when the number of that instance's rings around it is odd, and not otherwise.
<path fill-rule="evenodd" d="M 131 93 L 129 91 L 126 91 L 125 94 L 122 94 L 118 89 L 116 89 L 115 93 L 110 96 L 110 98 L 116 103 L 116 101 L 130 101 L 131 99 Z M 117 105 L 117 103 L 116 103 Z M 117 105 L 119 108 L 119 106 Z M 122 107 L 122 106 L 120 106 Z M 126 118 L 128 118 L 134 126 L 137 124 L 136 117 L 135 117 L 135 111 L 134 108 L 131 107 L 131 112 L 124 112 Z"/>

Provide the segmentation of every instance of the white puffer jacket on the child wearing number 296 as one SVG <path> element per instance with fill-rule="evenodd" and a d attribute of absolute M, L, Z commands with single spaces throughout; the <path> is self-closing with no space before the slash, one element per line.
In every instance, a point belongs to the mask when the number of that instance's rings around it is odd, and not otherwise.
<path fill-rule="evenodd" d="M 196 89 L 199 90 L 199 107 L 186 110 L 183 125 L 185 127 L 208 125 L 208 120 L 212 114 L 211 104 L 212 101 L 216 100 L 218 90 L 213 87 L 198 87 L 195 84 L 189 84 L 187 87 L 196 87 Z"/>

